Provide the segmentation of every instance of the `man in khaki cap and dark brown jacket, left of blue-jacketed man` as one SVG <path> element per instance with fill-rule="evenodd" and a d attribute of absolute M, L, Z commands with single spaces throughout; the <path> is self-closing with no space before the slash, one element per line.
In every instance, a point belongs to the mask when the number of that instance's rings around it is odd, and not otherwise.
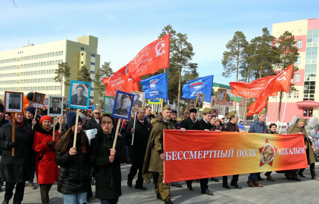
<path fill-rule="evenodd" d="M 219 115 L 219 116 L 222 116 L 222 115 Z M 218 116 L 218 118 L 219 118 L 219 116 Z M 229 121 L 228 121 L 228 123 L 226 123 L 226 124 L 224 124 L 222 126 L 221 131 L 239 132 L 239 127 L 236 124 L 238 122 L 238 115 L 236 114 L 236 111 L 235 110 L 230 111 L 230 113 L 228 113 L 227 117 L 229 118 Z M 225 121 L 225 118 L 224 118 L 224 121 Z M 231 180 L 230 185 L 234 186 L 237 189 L 242 189 L 242 187 L 239 186 L 238 183 L 237 183 L 238 177 L 239 177 L 238 174 L 237 175 L 233 175 L 233 179 Z M 223 176 L 223 187 L 227 188 L 227 189 L 230 189 L 230 187 L 228 186 L 227 180 L 228 180 L 228 177 L 227 176 Z"/>

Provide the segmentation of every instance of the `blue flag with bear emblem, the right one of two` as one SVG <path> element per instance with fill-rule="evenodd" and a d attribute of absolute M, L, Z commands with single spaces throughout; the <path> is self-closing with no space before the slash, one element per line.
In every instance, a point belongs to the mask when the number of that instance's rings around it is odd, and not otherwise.
<path fill-rule="evenodd" d="M 187 81 L 183 86 L 183 95 L 185 99 L 196 99 L 197 94 L 205 94 L 204 102 L 211 102 L 211 90 L 213 87 L 213 75 L 204 76 L 193 81 Z"/>

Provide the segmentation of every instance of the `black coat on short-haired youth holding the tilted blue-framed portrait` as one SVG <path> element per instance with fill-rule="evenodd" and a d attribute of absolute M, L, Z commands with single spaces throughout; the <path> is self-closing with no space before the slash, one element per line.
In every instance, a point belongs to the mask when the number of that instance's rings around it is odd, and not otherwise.
<path fill-rule="evenodd" d="M 98 131 L 91 139 L 91 164 L 95 169 L 95 196 L 98 199 L 114 199 L 122 194 L 121 163 L 126 162 L 125 146 L 122 137 L 117 137 L 115 158 L 110 163 L 110 149 L 113 146 L 114 134 Z"/>

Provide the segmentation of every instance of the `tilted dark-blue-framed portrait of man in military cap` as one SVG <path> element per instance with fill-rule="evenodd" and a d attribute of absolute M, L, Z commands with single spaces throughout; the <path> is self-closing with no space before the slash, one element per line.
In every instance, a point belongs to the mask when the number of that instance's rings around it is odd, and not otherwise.
<path fill-rule="evenodd" d="M 112 117 L 129 120 L 133 99 L 134 94 L 117 91 L 115 96 L 115 104 L 112 110 Z"/>

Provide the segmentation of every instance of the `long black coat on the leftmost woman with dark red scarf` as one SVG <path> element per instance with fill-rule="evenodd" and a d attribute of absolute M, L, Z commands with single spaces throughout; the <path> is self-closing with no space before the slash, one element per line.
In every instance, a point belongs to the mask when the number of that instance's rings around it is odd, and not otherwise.
<path fill-rule="evenodd" d="M 33 131 L 24 123 L 22 128 L 15 125 L 14 157 L 11 148 L 7 145 L 12 141 L 12 121 L 0 128 L 0 147 L 2 149 L 0 176 L 8 183 L 23 183 L 31 178 L 31 151 L 33 144 Z M 34 160 L 34 159 L 33 159 Z"/>

